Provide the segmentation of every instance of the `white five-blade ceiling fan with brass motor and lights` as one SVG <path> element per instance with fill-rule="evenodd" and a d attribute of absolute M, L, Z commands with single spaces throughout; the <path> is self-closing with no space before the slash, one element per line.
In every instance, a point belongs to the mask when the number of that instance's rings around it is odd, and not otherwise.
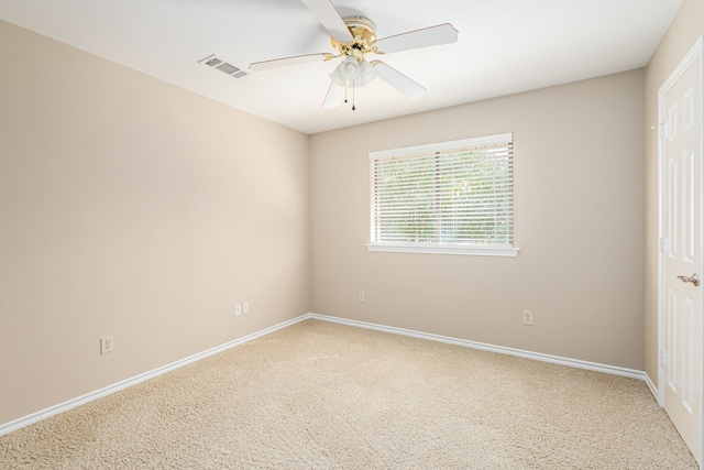
<path fill-rule="evenodd" d="M 250 69 L 261 72 L 309 62 L 341 58 L 342 62 L 340 65 L 330 74 L 332 83 L 322 102 L 323 108 L 338 107 L 343 97 L 345 97 L 344 101 L 346 102 L 348 88 L 351 88 L 354 94 L 355 88 L 369 85 L 376 77 L 402 91 L 410 99 L 420 98 L 427 91 L 422 86 L 382 61 L 374 59 L 369 62 L 365 54 L 388 54 L 419 47 L 450 44 L 458 40 L 458 31 L 450 23 L 438 24 L 377 40 L 376 25 L 367 18 L 342 18 L 332 3 L 330 3 L 330 0 L 301 0 L 301 2 L 316 15 L 322 26 L 328 30 L 330 33 L 330 42 L 338 54 L 306 54 L 255 62 L 250 64 Z M 352 109 L 355 109 L 354 103 L 352 103 Z"/>

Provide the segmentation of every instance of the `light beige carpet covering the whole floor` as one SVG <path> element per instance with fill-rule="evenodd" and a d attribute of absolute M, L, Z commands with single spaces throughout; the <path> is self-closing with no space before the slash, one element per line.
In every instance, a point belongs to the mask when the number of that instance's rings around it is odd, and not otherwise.
<path fill-rule="evenodd" d="M 695 469 L 645 383 L 308 320 L 0 437 L 2 469 Z"/>

